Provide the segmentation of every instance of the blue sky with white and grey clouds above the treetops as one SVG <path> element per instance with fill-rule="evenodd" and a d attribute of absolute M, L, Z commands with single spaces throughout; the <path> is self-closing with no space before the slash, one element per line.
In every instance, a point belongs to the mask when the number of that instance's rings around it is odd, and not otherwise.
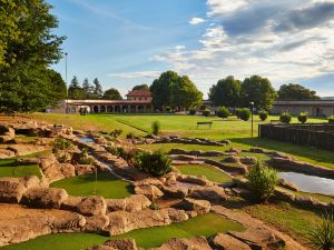
<path fill-rule="evenodd" d="M 68 82 L 122 94 L 167 70 L 207 96 L 253 74 L 334 96 L 334 0 L 47 0 L 66 36 Z M 65 78 L 65 59 L 53 68 Z"/>

